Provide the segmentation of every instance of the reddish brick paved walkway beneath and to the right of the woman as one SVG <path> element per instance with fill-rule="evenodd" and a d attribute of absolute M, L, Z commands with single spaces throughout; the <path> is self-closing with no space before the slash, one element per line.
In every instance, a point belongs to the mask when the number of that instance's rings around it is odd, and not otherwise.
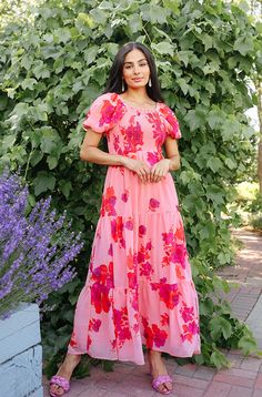
<path fill-rule="evenodd" d="M 239 230 L 234 235 L 244 244 L 238 255 L 238 264 L 220 272 L 221 276 L 239 283 L 226 298 L 233 312 L 245 320 L 262 348 L 262 236 Z M 174 379 L 177 397 L 262 397 L 262 359 L 243 357 L 239 350 L 226 354 L 230 369 L 215 370 L 196 365 L 178 366 L 167 359 L 169 374 Z M 151 389 L 148 365 L 117 363 L 114 371 L 104 373 L 100 367 L 91 369 L 91 376 L 73 379 L 69 397 L 153 397 L 160 396 Z M 44 397 L 49 396 L 43 380 Z"/>

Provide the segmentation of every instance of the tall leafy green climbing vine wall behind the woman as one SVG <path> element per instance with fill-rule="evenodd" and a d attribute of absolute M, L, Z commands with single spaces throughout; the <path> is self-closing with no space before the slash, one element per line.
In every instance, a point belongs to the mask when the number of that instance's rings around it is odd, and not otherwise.
<path fill-rule="evenodd" d="M 79 277 L 54 294 L 42 322 L 47 359 L 64 350 L 88 271 L 105 169 L 79 161 L 82 121 L 107 81 L 119 44 L 153 52 L 168 104 L 181 124 L 182 169 L 174 174 L 200 297 L 202 354 L 225 365 L 220 347 L 254 342 L 215 293 L 228 286 L 214 269 L 233 262 L 226 205 L 232 185 L 252 166 L 255 135 L 244 111 L 261 70 L 261 24 L 234 3 L 195 0 L 47 0 L 34 19 L 9 23 L 0 38 L 0 164 L 18 166 L 36 197 L 52 194 L 82 231 Z M 244 6 L 243 6 L 244 7 Z M 31 16 L 32 17 L 32 16 Z M 223 214 L 230 215 L 224 217 Z"/>

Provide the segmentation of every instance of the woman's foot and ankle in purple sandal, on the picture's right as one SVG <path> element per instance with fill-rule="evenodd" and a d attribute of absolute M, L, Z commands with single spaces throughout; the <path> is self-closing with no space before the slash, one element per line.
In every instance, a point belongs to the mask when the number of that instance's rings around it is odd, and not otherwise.
<path fill-rule="evenodd" d="M 169 379 L 169 374 L 162 362 L 161 352 L 150 349 L 148 352 L 148 357 L 150 364 L 150 374 L 154 380 L 159 378 L 159 381 L 154 383 L 153 387 L 161 394 L 170 394 L 173 389 L 173 385 L 171 378 Z M 163 381 L 161 381 L 161 377 Z"/>

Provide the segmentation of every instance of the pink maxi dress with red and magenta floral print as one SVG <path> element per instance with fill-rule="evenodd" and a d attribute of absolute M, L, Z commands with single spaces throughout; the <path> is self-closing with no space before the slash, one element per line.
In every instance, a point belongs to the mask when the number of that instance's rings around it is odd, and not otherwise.
<path fill-rule="evenodd" d="M 167 135 L 181 136 L 165 104 L 138 109 L 117 93 L 99 96 L 83 126 L 105 134 L 110 153 L 150 166 L 163 159 Z M 144 364 L 142 345 L 177 357 L 199 354 L 198 296 L 171 174 L 143 184 L 134 172 L 109 166 L 69 353 Z"/>

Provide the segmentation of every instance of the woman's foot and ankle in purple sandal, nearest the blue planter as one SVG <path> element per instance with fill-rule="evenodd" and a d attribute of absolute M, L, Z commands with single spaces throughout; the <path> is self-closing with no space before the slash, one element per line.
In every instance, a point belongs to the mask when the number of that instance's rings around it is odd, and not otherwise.
<path fill-rule="evenodd" d="M 70 380 L 73 369 L 77 367 L 77 365 L 81 362 L 80 355 L 72 355 L 67 354 L 62 365 L 60 366 L 58 373 L 56 376 L 61 376 L 61 378 L 64 378 L 66 380 Z M 56 379 L 56 377 L 54 377 Z M 50 385 L 50 395 L 51 396 L 62 396 L 67 390 L 62 386 L 59 386 L 59 384 L 53 383 Z"/>

